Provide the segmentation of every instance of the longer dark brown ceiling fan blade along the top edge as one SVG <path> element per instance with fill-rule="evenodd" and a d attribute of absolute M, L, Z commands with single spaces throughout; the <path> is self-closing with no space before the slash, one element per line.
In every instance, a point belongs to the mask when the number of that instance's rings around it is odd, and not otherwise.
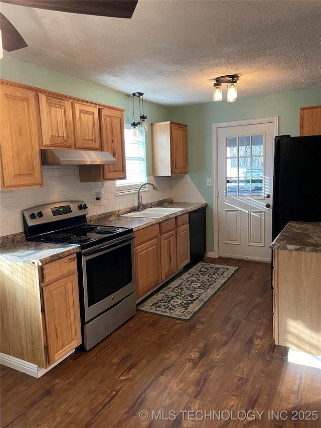
<path fill-rule="evenodd" d="M 73 14 L 131 18 L 138 0 L 2 0 L 2 2 Z"/>

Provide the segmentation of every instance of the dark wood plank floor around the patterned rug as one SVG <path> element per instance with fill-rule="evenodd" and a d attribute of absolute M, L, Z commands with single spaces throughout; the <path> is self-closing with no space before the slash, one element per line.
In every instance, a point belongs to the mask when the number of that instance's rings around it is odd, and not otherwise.
<path fill-rule="evenodd" d="M 206 261 L 240 269 L 190 322 L 138 312 L 40 379 L 2 366 L 1 426 L 320 427 L 321 370 L 273 344 L 270 264 Z M 292 420 L 312 411 L 318 420 Z"/>

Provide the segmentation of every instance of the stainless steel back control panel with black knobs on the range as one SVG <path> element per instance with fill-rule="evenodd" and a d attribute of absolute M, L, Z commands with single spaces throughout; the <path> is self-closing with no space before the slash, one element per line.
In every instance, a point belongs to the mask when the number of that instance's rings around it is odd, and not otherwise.
<path fill-rule="evenodd" d="M 81 210 L 79 206 L 82 207 Z M 88 206 L 85 201 L 53 202 L 23 210 L 24 220 L 30 227 L 86 214 L 88 214 Z"/>

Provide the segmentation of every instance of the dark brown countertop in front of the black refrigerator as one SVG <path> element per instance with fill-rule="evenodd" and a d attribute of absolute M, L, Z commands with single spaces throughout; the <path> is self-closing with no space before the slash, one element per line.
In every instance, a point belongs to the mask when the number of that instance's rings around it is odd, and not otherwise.
<path fill-rule="evenodd" d="M 321 223 L 290 221 L 274 239 L 270 248 L 321 253 Z"/>

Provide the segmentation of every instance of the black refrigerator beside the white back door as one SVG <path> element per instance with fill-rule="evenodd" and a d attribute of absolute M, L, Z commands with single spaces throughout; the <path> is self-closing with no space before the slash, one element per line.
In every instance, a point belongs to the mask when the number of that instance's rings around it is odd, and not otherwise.
<path fill-rule="evenodd" d="M 321 135 L 275 137 L 272 240 L 289 221 L 321 221 Z"/>

